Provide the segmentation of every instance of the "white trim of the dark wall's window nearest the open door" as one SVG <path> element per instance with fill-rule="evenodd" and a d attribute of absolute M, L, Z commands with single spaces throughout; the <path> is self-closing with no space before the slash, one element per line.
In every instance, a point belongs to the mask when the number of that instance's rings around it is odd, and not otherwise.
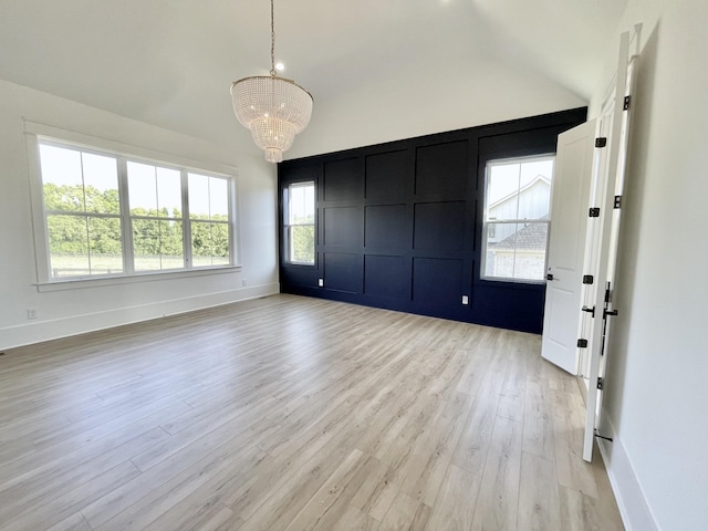
<path fill-rule="evenodd" d="M 487 160 L 487 164 L 485 165 L 485 190 L 483 190 L 483 195 L 485 195 L 485 205 L 483 205 L 483 210 L 482 210 L 482 238 L 481 238 L 481 257 L 480 257 L 480 269 L 479 269 L 479 278 L 482 281 L 488 281 L 488 282 L 506 282 L 506 283 L 511 283 L 511 284 L 545 284 L 545 279 L 514 279 L 514 278 L 509 278 L 509 277 L 492 277 L 492 275 L 488 275 L 485 274 L 485 271 L 487 270 L 487 231 L 488 231 L 488 227 L 490 223 L 493 225 L 502 225 L 502 223 L 545 223 L 548 226 L 546 229 L 546 240 L 545 240 L 545 254 L 544 254 L 544 262 L 543 262 L 543 270 L 545 271 L 546 267 L 548 267 L 548 260 L 549 260 L 549 241 L 550 241 L 550 235 L 551 235 L 551 221 L 553 220 L 553 212 L 551 211 L 551 204 L 549 205 L 549 219 L 500 219 L 500 220 L 488 220 L 487 219 L 487 187 L 489 186 L 489 177 L 490 177 L 490 171 L 489 168 L 491 166 L 501 166 L 504 164 L 523 164 L 523 163 L 528 163 L 528 162 L 533 162 L 533 160 L 538 160 L 538 159 L 543 159 L 543 158 L 553 158 L 553 168 L 555 171 L 555 154 L 554 153 L 544 153 L 544 154 L 539 154 L 539 155 L 530 155 L 527 157 L 510 157 L 510 158 L 496 158 L 496 159 L 490 159 Z M 553 179 L 551 179 L 551 194 L 553 194 Z"/>

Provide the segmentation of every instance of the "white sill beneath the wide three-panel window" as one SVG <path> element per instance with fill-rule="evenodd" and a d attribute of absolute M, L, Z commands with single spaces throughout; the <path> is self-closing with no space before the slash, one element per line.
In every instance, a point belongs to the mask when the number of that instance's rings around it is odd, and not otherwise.
<path fill-rule="evenodd" d="M 241 266 L 217 266 L 211 268 L 198 268 L 181 271 L 155 271 L 134 274 L 116 274 L 111 277 L 81 277 L 73 279 L 60 279 L 49 282 L 40 282 L 37 285 L 39 292 L 77 290 L 82 288 L 98 288 L 103 285 L 132 284 L 137 282 L 154 282 L 158 280 L 186 279 L 191 277 L 205 277 L 211 274 L 233 273 L 241 270 Z"/>

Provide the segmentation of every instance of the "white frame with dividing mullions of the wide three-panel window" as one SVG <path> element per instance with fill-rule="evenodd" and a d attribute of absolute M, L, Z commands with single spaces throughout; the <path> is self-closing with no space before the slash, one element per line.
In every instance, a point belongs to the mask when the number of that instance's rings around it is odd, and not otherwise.
<path fill-rule="evenodd" d="M 53 126 L 25 121 L 25 140 L 28 148 L 28 166 L 30 174 L 30 199 L 32 206 L 32 223 L 34 232 L 37 283 L 39 291 L 55 291 L 83 288 L 87 285 L 111 285 L 160 279 L 173 279 L 204 274 L 218 274 L 240 270 L 240 237 L 238 219 L 238 177 L 236 168 L 215 164 L 195 163 L 181 157 L 166 157 L 164 153 L 155 153 L 137 146 L 127 146 L 114 140 L 92 137 L 81 133 L 67 132 Z M 52 277 L 48 212 L 44 209 L 43 178 L 40 160 L 40 145 L 51 145 L 87 154 L 107 156 L 116 159 L 118 175 L 119 214 L 111 215 L 121 219 L 123 240 L 123 271 L 111 274 L 85 274 L 72 277 Z M 166 158 L 169 158 L 166 160 Z M 184 268 L 165 270 L 135 270 L 133 256 L 133 216 L 129 212 L 127 187 L 127 162 L 153 165 L 180 171 L 181 184 L 181 221 Z M 191 260 L 191 235 L 188 209 L 187 181 L 188 174 L 225 179 L 228 187 L 228 231 L 229 263 L 194 267 Z M 76 212 L 80 216 L 93 216 L 93 212 Z M 103 216 L 98 214 L 98 216 Z M 168 219 L 168 218 L 165 218 Z"/>

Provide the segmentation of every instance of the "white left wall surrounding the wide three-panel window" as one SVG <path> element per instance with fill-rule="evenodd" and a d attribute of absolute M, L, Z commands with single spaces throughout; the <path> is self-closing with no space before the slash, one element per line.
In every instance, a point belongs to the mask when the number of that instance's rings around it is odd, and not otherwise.
<path fill-rule="evenodd" d="M 39 292 L 23 118 L 205 169 L 237 167 L 241 270 Z M 253 149 L 239 153 L 0 81 L 0 348 L 277 293 L 275 198 L 275 167 Z M 37 320 L 28 321 L 30 308 Z"/>

